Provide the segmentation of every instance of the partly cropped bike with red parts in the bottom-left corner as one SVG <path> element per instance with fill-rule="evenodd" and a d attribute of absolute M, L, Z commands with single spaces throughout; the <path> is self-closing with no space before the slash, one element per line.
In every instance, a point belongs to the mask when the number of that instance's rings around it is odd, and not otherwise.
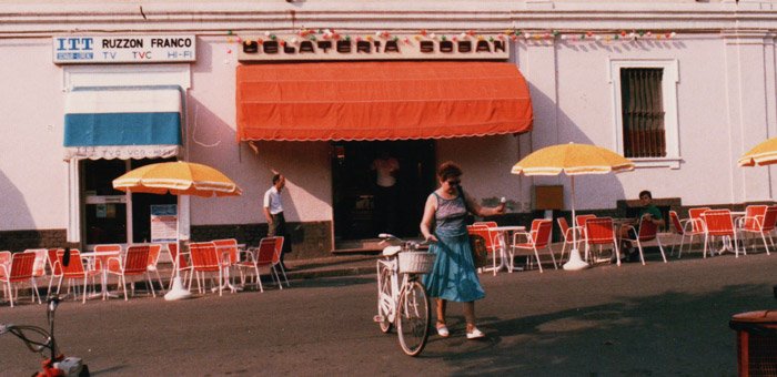
<path fill-rule="evenodd" d="M 36 377 L 49 376 L 79 376 L 88 377 L 89 367 L 78 357 L 64 357 L 60 354 L 57 340 L 54 339 L 54 312 L 59 305 L 59 297 L 50 296 L 47 300 L 46 317 L 49 320 L 49 330 L 38 326 L 24 325 L 2 325 L 0 324 L 0 335 L 6 333 L 14 335 L 22 342 L 30 351 L 41 354 L 50 351 L 49 358 L 41 363 L 43 370 L 34 373 Z M 31 337 L 36 337 L 34 339 Z M 40 338 L 38 338 L 40 337 Z M 43 356 L 46 357 L 46 356 Z"/>

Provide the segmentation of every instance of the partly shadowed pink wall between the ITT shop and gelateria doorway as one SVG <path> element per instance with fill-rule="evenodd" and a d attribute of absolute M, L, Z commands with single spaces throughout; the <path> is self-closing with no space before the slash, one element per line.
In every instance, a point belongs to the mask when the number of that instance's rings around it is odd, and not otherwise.
<path fill-rule="evenodd" d="M 331 221 L 329 143 L 258 143 L 258 152 L 235 141 L 234 44 L 224 38 L 198 39 L 198 63 L 189 92 L 189 156 L 232 177 L 243 195 L 192 198 L 192 225 L 264 223 L 262 197 L 272 171 L 286 176 L 287 221 Z"/>

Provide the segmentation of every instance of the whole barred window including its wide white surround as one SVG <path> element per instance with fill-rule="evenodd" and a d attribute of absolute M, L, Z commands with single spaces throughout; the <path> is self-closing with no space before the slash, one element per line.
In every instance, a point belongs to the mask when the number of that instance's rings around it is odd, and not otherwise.
<path fill-rule="evenodd" d="M 679 169 L 677 60 L 609 61 L 617 152 L 637 167 Z"/>

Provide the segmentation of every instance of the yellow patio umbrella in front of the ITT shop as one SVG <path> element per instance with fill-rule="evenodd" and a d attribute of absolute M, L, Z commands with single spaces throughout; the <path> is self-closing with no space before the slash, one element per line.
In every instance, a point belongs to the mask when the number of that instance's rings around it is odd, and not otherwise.
<path fill-rule="evenodd" d="M 138 167 L 113 180 L 113 188 L 150 194 L 239 196 L 242 191 L 224 173 L 203 164 L 193 162 L 162 162 Z M 179 203 L 180 204 L 180 203 Z M 180 205 L 179 205 L 180 207 Z M 181 216 L 178 216 L 179 227 Z M 180 234 L 175 232 L 180 248 Z M 181 253 L 178 253 L 179 259 Z M 180 261 L 179 261 L 180 263 Z M 178 264 L 178 263 L 176 263 Z M 164 295 L 164 299 L 173 300 L 191 296 L 189 289 L 181 283 L 180 269 L 175 268 L 173 287 Z"/>

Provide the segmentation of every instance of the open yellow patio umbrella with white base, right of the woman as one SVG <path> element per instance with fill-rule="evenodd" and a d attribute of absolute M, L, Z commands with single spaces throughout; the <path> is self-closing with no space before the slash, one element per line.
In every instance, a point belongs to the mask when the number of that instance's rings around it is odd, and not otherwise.
<path fill-rule="evenodd" d="M 516 163 L 511 173 L 524 175 L 557 175 L 565 173 L 572 180 L 572 221 L 575 221 L 575 175 L 607 174 L 634 170 L 634 162 L 596 145 L 558 144 L 543 147 Z M 572 233 L 573 248 L 564 269 L 583 269 L 588 264 L 577 249 L 577 234 Z"/>

